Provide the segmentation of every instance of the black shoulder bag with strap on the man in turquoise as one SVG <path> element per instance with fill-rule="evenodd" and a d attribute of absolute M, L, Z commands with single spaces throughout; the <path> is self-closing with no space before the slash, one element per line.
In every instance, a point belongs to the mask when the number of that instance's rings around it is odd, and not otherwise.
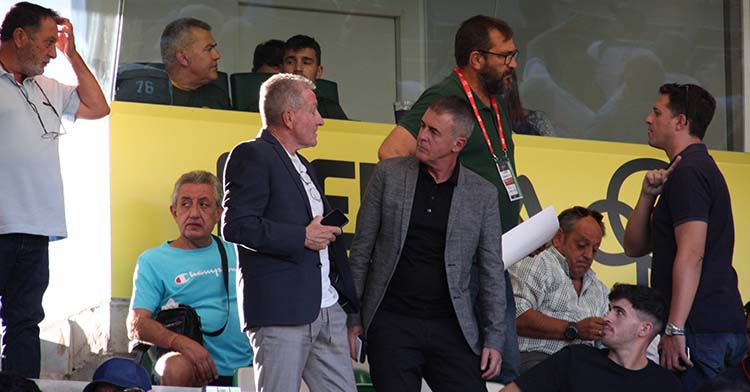
<path fill-rule="evenodd" d="M 173 309 L 164 309 L 156 314 L 155 320 L 162 323 L 164 327 L 172 332 L 176 332 L 180 335 L 184 335 L 194 341 L 203 344 L 203 335 L 207 336 L 219 336 L 224 332 L 229 321 L 229 266 L 227 262 L 227 251 L 224 249 L 221 239 L 215 235 L 211 235 L 216 241 L 216 245 L 219 248 L 221 254 L 221 270 L 224 275 L 224 291 L 227 294 L 227 317 L 224 320 L 224 325 L 216 331 L 204 331 L 201 327 L 201 318 L 198 316 L 198 312 L 188 305 L 180 304 L 178 307 Z M 161 354 L 168 351 L 162 347 L 159 347 Z"/>

